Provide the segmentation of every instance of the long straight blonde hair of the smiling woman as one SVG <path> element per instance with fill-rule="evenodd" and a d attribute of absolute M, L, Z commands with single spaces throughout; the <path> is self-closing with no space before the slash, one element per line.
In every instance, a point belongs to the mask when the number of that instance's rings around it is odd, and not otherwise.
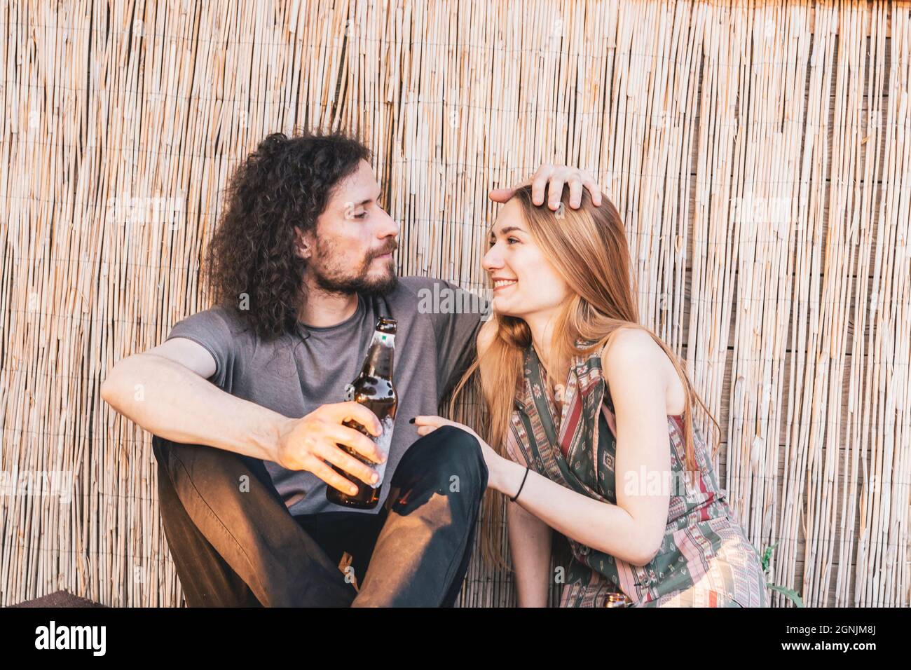
<path fill-rule="evenodd" d="M 564 187 L 560 209 L 550 211 L 532 201 L 531 187 L 516 191 L 513 199 L 521 205 L 528 232 L 548 260 L 568 284 L 571 297 L 560 309 L 548 350 L 549 370 L 557 369 L 549 361 L 571 360 L 572 356 L 589 356 L 607 345 L 610 337 L 624 327 L 640 328 L 649 333 L 670 358 L 681 377 L 686 394 L 683 412 L 687 466 L 697 469 L 693 438 L 691 408 L 699 403 L 711 421 L 721 427 L 708 407 L 693 389 L 678 356 L 649 328 L 639 323 L 636 302 L 636 279 L 630 275 L 630 248 L 613 203 L 603 194 L 596 207 L 588 191 L 583 190 L 581 206 L 568 206 L 568 186 Z M 558 215 L 560 212 L 560 215 Z M 630 281 L 633 284 L 630 285 Z M 517 388 L 522 380 L 524 352 L 531 345 L 531 330 L 527 323 L 514 316 L 493 314 L 496 333 L 483 354 L 476 358 L 459 380 L 449 400 L 449 416 L 470 417 L 476 432 L 504 458 L 507 431 L 513 412 Z M 595 341 L 595 345 L 578 348 L 577 339 Z M 462 402 L 466 397 L 479 397 L 480 403 Z M 478 421 L 478 419 L 480 419 Z M 717 450 L 716 444 L 715 449 Z M 481 541 L 484 560 L 510 569 L 503 552 L 501 534 L 497 531 L 503 518 L 503 494 L 488 489 L 482 509 Z"/>

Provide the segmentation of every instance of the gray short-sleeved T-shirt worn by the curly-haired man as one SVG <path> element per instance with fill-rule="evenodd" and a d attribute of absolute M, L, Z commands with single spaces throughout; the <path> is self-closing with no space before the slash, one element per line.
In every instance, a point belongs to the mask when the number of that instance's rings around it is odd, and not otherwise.
<path fill-rule="evenodd" d="M 375 514 L 382 510 L 396 465 L 420 437 L 408 419 L 441 413 L 440 400 L 476 355 L 477 330 L 486 309 L 486 301 L 453 283 L 399 277 L 390 294 L 359 294 L 356 312 L 341 324 L 298 324 L 296 333 L 267 342 L 240 316 L 219 306 L 183 319 L 167 339 L 186 337 L 204 346 L 216 364 L 209 381 L 226 393 L 286 417 L 303 417 L 321 405 L 343 402 L 345 385 L 360 373 L 377 316 L 394 318 L 398 407 L 392 446 L 379 504 L 372 510 L 356 510 Z M 311 472 L 264 462 L 294 516 L 354 511 L 326 500 L 325 482 Z"/>

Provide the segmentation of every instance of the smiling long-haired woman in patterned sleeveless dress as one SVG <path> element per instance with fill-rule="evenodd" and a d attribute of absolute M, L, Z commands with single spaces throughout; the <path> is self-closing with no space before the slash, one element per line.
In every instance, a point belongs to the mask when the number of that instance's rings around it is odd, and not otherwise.
<path fill-rule="evenodd" d="M 486 556 L 502 564 L 496 490 L 510 499 L 520 606 L 546 605 L 560 577 L 560 606 L 603 606 L 617 593 L 633 606 L 768 606 L 759 556 L 693 424 L 696 394 L 639 324 L 623 225 L 599 200 L 584 192 L 578 210 L 557 213 L 526 186 L 503 207 L 483 261 L 494 315 L 449 406 L 455 416 L 479 382 L 483 438 L 441 417 L 415 417 L 418 433 L 450 424 L 480 441 Z M 550 573 L 551 529 L 572 550 L 565 574 Z"/>

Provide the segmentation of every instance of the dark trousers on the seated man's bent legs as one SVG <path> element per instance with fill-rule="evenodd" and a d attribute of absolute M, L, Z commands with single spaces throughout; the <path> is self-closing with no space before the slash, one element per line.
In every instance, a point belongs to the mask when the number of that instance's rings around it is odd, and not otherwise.
<path fill-rule="evenodd" d="M 378 514 L 293 517 L 260 459 L 158 436 L 152 449 L 190 607 L 455 604 L 488 475 L 466 431 L 437 428 L 408 448 Z"/>

